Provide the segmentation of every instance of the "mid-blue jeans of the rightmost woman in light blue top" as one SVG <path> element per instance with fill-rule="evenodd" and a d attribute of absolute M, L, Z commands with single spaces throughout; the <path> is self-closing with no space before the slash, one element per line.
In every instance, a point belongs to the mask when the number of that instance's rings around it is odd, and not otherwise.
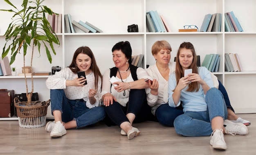
<path fill-rule="evenodd" d="M 213 132 L 211 120 L 217 116 L 227 119 L 227 106 L 222 93 L 211 88 L 205 96 L 207 111 L 185 111 L 174 120 L 176 133 L 184 136 L 209 136 Z"/>

